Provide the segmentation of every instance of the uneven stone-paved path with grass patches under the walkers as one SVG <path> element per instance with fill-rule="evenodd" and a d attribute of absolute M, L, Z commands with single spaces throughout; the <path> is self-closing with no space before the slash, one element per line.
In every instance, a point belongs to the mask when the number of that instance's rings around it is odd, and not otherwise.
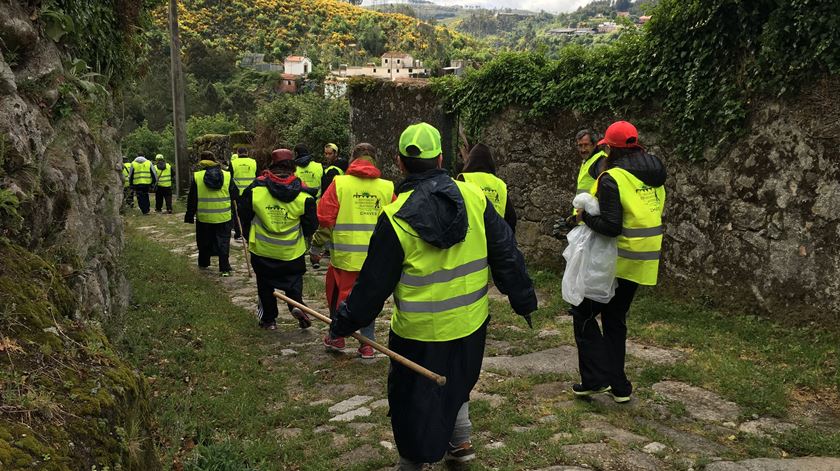
<path fill-rule="evenodd" d="M 153 215 L 133 218 L 130 224 L 194 263 L 193 226 L 180 218 Z M 211 271 L 195 272 L 218 280 L 235 305 L 255 315 L 255 281 L 245 275 L 242 246 L 236 242 L 231 244 L 231 264 L 235 271 L 229 278 L 219 278 L 215 265 Z M 321 312 L 326 312 L 321 294 L 325 272 L 310 270 L 304 289 L 306 303 Z M 494 292 L 491 298 L 494 319 L 487 358 L 472 395 L 478 460 L 470 469 L 840 470 L 840 459 L 794 458 L 784 447 L 786 434 L 821 430 L 834 420 L 830 415 L 810 421 L 749 415 L 713 391 L 667 377 L 642 381 L 626 405 L 615 404 L 607 395 L 575 400 L 569 390 L 577 379 L 576 349 L 570 318 L 556 300 L 541 299 L 543 310 L 552 311 L 551 319 L 528 331 L 503 296 Z M 327 410 L 321 419 L 303 426 L 281 425 L 277 436 L 281 441 L 319 437 L 341 450 L 332 466 L 354 463 L 361 466 L 358 469 L 376 469 L 395 463 L 385 417 L 387 359 L 357 358 L 353 340 L 343 355 L 328 355 L 321 345 L 325 329 L 313 322 L 312 328 L 301 331 L 281 308 L 278 330 L 266 332 L 261 345 L 264 355 L 258 361 L 266 368 L 299 368 L 311 373 L 307 378 L 314 375 L 314 380 L 293 378 L 285 394 L 302 396 L 308 406 Z M 377 337 L 385 339 L 387 332 L 383 315 L 377 319 Z M 691 354 L 690 349 L 633 341 L 628 345 L 628 369 L 631 377 L 650 375 L 658 368 L 678 367 Z M 342 375 L 337 368 L 354 373 Z M 359 437 L 364 440 L 356 440 Z"/>

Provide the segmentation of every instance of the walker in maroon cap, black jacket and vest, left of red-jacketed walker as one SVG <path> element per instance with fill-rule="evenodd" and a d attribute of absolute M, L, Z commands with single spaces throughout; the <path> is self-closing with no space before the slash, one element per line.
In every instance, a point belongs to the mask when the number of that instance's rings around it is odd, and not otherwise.
<path fill-rule="evenodd" d="M 277 328 L 275 289 L 303 303 L 306 239 L 318 228 L 315 198 L 295 176 L 294 155 L 275 149 L 272 163 L 242 194 L 239 203 L 243 236 L 248 239 L 251 265 L 257 275 L 259 326 Z M 289 306 L 301 329 L 312 325 L 300 309 Z"/>

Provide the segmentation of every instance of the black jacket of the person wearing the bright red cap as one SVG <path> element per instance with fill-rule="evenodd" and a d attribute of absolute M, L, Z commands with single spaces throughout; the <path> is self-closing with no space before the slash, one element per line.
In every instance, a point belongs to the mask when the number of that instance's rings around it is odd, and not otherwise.
<path fill-rule="evenodd" d="M 603 158 L 603 157 L 602 157 Z M 599 167 L 600 160 L 589 167 L 589 174 L 598 178 L 595 173 Z M 607 169 L 623 168 L 633 174 L 636 178 L 650 186 L 662 186 L 665 184 L 665 166 L 659 157 L 648 154 L 643 149 L 638 152 L 625 155 L 616 160 L 607 158 Z M 618 183 L 608 173 L 601 175 L 598 181 L 598 204 L 601 208 L 600 216 L 593 216 L 584 213 L 583 221 L 593 231 L 608 237 L 617 237 L 621 234 L 621 222 L 624 217 L 621 207 L 621 196 L 618 191 Z"/>

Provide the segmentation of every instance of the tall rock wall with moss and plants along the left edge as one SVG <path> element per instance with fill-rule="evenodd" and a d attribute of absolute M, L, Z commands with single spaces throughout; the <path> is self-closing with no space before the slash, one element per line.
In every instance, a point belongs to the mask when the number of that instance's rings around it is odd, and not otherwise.
<path fill-rule="evenodd" d="M 2 469 L 159 467 L 99 327 L 127 303 L 110 96 L 140 2 L 117 3 L 0 3 Z"/>

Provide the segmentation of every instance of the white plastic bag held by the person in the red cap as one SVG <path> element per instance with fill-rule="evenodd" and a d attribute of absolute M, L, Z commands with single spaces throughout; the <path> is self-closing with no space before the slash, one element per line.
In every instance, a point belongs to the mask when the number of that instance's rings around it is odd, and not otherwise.
<path fill-rule="evenodd" d="M 575 208 L 592 215 L 601 214 L 598 200 L 588 193 L 575 196 Z M 615 295 L 615 262 L 618 250 L 615 237 L 607 237 L 581 224 L 566 235 L 569 246 L 563 251 L 566 271 L 563 273 L 563 300 L 572 306 L 589 298 L 608 303 Z"/>

